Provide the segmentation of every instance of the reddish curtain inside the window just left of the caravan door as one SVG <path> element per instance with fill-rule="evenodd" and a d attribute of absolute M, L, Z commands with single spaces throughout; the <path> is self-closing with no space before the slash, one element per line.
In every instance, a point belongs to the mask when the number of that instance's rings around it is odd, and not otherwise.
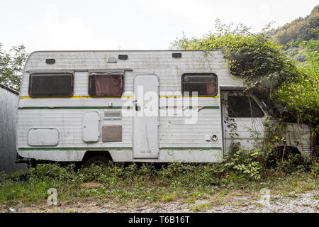
<path fill-rule="evenodd" d="M 121 96 L 122 77 L 121 75 L 100 74 L 94 78 L 96 96 Z"/>

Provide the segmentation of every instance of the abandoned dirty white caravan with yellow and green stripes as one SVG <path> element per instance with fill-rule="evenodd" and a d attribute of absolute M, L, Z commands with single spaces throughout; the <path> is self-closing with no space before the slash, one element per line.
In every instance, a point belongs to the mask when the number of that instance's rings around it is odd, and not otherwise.
<path fill-rule="evenodd" d="M 269 115 L 243 88 L 219 50 L 33 52 L 18 162 L 220 162 L 233 143 L 252 148 L 252 128 L 263 139 Z M 286 133 L 287 146 L 310 154 L 308 126 Z"/>

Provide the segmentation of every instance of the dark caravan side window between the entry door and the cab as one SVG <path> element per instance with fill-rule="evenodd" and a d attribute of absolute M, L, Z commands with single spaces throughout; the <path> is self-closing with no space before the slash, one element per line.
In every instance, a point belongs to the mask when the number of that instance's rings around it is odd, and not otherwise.
<path fill-rule="evenodd" d="M 181 76 L 181 92 L 198 92 L 198 96 L 216 96 L 217 75 L 214 73 L 188 73 Z"/>

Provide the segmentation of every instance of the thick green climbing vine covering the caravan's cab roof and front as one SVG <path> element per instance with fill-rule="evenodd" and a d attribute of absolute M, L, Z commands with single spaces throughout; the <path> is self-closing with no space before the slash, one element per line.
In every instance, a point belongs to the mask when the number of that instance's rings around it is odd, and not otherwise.
<path fill-rule="evenodd" d="M 247 92 L 262 98 L 276 116 L 307 123 L 313 128 L 312 135 L 318 135 L 318 40 L 298 43 L 306 55 L 306 62 L 298 62 L 267 36 L 270 24 L 257 34 L 242 24 L 225 25 L 218 19 L 215 27 L 216 33 L 210 32 L 202 38 L 186 38 L 183 34 L 171 48 L 222 50 L 229 61 L 230 73 L 244 80 Z M 282 107 L 281 111 L 278 107 Z"/>

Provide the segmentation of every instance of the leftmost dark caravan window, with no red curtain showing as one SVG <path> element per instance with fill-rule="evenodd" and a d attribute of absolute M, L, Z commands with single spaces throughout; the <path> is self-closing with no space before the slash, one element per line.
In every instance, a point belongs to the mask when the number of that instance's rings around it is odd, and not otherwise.
<path fill-rule="evenodd" d="M 35 73 L 30 75 L 30 97 L 57 97 L 73 95 L 73 74 Z"/>

